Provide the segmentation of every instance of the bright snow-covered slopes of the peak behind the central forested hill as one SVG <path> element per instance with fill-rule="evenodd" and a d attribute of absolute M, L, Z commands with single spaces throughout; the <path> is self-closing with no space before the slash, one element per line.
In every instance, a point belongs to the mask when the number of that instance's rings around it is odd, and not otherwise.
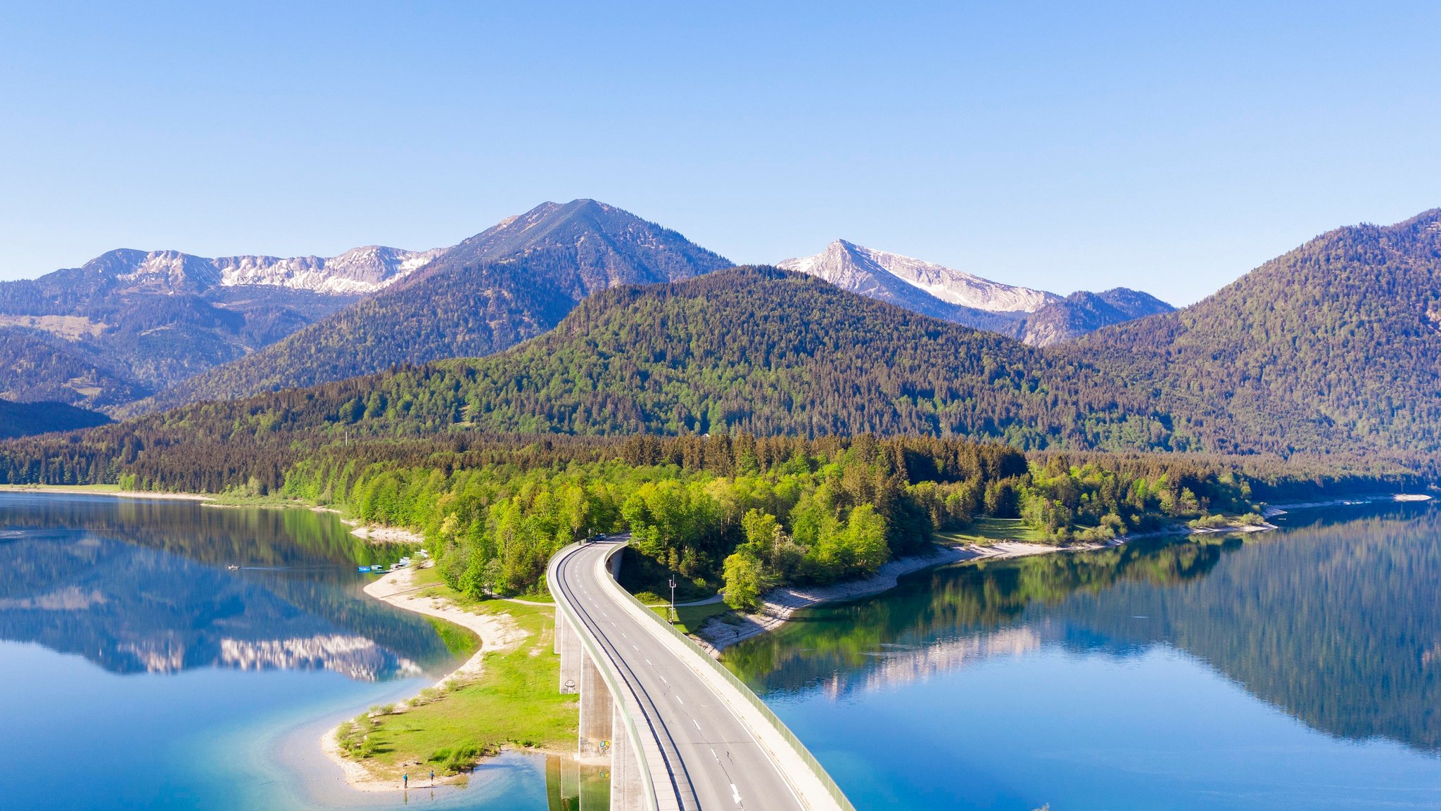
<path fill-rule="evenodd" d="M 989 313 L 1035 313 L 1059 301 L 1053 292 L 1013 287 L 888 251 L 837 239 L 814 256 L 785 259 L 777 266 L 818 277 L 843 290 L 886 298 L 886 277 L 898 278 L 941 301 Z"/>

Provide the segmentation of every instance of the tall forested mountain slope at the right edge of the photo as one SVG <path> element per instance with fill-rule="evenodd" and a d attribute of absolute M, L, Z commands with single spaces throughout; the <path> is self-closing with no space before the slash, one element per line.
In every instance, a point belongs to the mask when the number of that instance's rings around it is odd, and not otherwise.
<path fill-rule="evenodd" d="M 1441 451 L 1441 210 L 1324 233 L 1177 313 L 1056 357 L 1216 452 Z"/>

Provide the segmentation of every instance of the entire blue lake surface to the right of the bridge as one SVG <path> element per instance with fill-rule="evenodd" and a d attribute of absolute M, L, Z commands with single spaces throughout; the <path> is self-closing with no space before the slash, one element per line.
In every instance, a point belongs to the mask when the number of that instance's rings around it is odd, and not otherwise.
<path fill-rule="evenodd" d="M 725 661 L 862 811 L 1441 808 L 1441 508 L 960 565 Z"/>

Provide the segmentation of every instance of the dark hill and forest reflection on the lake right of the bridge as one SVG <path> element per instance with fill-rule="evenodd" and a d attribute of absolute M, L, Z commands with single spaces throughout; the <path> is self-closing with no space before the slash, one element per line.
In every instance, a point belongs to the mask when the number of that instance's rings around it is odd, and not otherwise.
<path fill-rule="evenodd" d="M 1208 663 L 1313 729 L 1441 750 L 1441 510 L 1297 513 L 1262 536 L 958 565 L 725 654 L 769 700 L 883 691 L 1043 645 Z"/>

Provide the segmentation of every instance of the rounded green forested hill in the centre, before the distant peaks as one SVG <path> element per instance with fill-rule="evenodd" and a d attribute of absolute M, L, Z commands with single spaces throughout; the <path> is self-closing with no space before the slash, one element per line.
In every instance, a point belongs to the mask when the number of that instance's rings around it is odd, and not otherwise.
<path fill-rule="evenodd" d="M 357 349 L 357 351 L 360 351 Z M 186 406 L 111 429 L 259 432 L 916 434 L 1017 448 L 1187 448 L 1164 415 L 1014 340 L 935 321 L 774 268 L 624 287 L 510 351 Z M 169 441 L 169 439 L 166 439 Z"/>

